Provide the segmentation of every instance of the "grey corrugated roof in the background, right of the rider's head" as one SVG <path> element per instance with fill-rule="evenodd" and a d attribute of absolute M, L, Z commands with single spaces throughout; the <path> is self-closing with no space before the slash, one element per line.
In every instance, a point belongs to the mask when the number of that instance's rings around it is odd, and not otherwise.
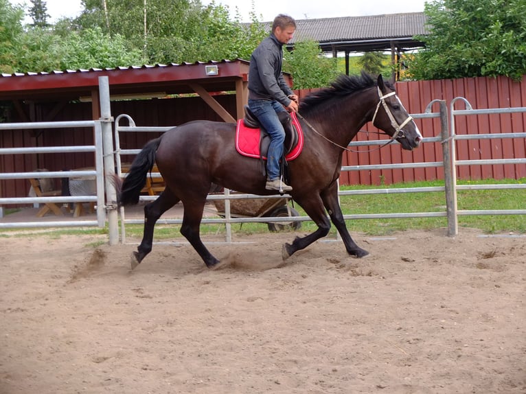
<path fill-rule="evenodd" d="M 296 34 L 289 46 L 301 40 L 312 39 L 320 43 L 323 51 L 378 51 L 423 47 L 414 36 L 428 34 L 424 12 L 382 14 L 371 16 L 342 16 L 340 18 L 296 20 Z M 271 22 L 265 23 L 270 30 Z"/>

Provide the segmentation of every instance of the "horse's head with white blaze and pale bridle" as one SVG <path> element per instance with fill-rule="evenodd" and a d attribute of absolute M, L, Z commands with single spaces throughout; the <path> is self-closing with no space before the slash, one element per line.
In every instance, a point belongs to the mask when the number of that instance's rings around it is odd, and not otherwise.
<path fill-rule="evenodd" d="M 400 142 L 404 149 L 413 150 L 422 141 L 422 134 L 413 118 L 405 110 L 396 91 L 384 83 L 381 74 L 378 76 L 378 105 L 372 121 L 374 126 Z"/>

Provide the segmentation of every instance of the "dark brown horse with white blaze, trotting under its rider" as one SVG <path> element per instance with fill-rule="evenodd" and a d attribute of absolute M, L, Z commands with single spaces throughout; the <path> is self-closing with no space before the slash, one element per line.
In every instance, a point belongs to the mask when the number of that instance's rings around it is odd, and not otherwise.
<path fill-rule="evenodd" d="M 290 196 L 317 224 L 304 237 L 295 237 L 282 247 L 282 259 L 325 237 L 330 221 L 341 235 L 347 253 L 364 257 L 347 231 L 338 200 L 337 180 L 343 152 L 368 121 L 398 141 L 403 149 L 420 145 L 422 135 L 413 118 L 396 95 L 393 85 L 382 76 L 373 78 L 341 75 L 329 86 L 310 93 L 299 105 L 299 122 L 304 130 L 301 154 L 287 163 Z M 137 154 L 124 181 L 115 177 L 117 204 L 135 205 L 154 163 L 164 178 L 165 189 L 144 207 L 144 233 L 133 252 L 132 269 L 152 251 L 155 223 L 176 203 L 183 203 L 181 234 L 190 242 L 206 266 L 222 266 L 201 241 L 199 227 L 211 185 L 228 187 L 260 196 L 279 192 L 265 189 L 266 175 L 260 159 L 245 157 L 235 147 L 236 124 L 196 120 L 176 126 L 146 143 Z M 330 220 L 327 216 L 330 217 Z"/>

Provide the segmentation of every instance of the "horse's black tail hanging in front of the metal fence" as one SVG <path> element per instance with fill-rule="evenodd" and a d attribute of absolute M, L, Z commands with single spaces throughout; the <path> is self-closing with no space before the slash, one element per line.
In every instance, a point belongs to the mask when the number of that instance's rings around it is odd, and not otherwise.
<path fill-rule="evenodd" d="M 155 163 L 155 154 L 160 143 L 161 137 L 146 143 L 133 160 L 124 181 L 119 176 L 115 176 L 113 183 L 117 189 L 117 204 L 119 206 L 135 205 L 139 202 L 139 195 L 146 185 L 146 176 Z"/>

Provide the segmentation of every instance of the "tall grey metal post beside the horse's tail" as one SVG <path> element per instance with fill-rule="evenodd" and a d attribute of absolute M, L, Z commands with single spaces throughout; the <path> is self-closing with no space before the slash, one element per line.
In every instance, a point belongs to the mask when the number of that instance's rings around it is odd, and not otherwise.
<path fill-rule="evenodd" d="M 102 124 L 102 144 L 104 152 L 104 185 L 106 187 L 106 210 L 108 212 L 109 244 L 119 242 L 119 218 L 117 216 L 117 192 L 113 185 L 115 160 L 113 159 L 113 117 L 110 108 L 110 86 L 107 76 L 99 77 L 100 122 Z"/>

